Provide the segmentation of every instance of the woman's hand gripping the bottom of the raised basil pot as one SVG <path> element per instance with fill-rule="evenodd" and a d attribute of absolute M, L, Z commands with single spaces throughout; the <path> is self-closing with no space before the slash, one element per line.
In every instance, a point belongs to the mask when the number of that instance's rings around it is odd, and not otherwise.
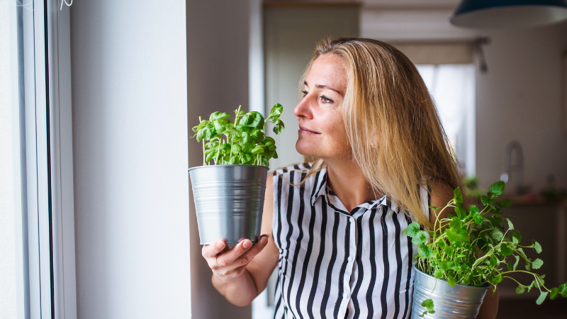
<path fill-rule="evenodd" d="M 254 245 L 250 240 L 242 240 L 232 249 L 226 245 L 225 240 L 217 240 L 213 245 L 203 245 L 201 254 L 213 270 L 213 275 L 220 281 L 229 283 L 242 276 L 249 262 L 262 252 L 268 244 L 268 236 L 260 236 Z"/>

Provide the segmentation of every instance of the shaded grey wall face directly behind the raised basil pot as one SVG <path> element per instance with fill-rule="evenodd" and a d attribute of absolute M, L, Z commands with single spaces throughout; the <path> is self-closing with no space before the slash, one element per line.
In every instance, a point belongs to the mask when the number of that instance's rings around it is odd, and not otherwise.
<path fill-rule="evenodd" d="M 189 128 L 214 111 L 232 113 L 249 101 L 249 5 L 247 1 L 187 1 Z M 258 88 L 262 89 L 262 88 Z M 191 134 L 193 135 L 193 134 Z M 203 163 L 201 145 L 189 140 L 189 167 Z M 191 194 L 192 197 L 192 194 Z M 250 318 L 250 307 L 232 306 L 210 283 L 191 202 L 191 303 L 193 318 Z"/>

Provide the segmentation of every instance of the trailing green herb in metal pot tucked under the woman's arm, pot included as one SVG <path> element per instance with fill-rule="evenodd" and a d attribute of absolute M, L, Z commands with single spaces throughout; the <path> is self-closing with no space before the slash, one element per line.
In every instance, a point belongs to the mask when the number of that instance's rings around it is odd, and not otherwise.
<path fill-rule="evenodd" d="M 567 298 L 567 283 L 548 289 L 544 275 L 532 272 L 544 262 L 528 258 L 524 250 L 539 254 L 541 245 L 535 240 L 522 245 L 522 234 L 509 217 L 502 215 L 503 208 L 512 204 L 509 199 L 496 200 L 504 188 L 503 181 L 492 184 L 481 196 L 482 210 L 474 205 L 466 208 L 457 188 L 447 206 L 430 206 L 436 212 L 441 209 L 437 216 L 443 216 L 449 207 L 454 208 L 456 216 L 437 217 L 431 231 L 422 230 L 418 223 L 405 229 L 418 247 L 412 318 L 476 318 L 488 287 L 495 290 L 505 278 L 517 282 L 516 293 L 539 289 L 538 305 L 547 296 L 552 300 L 558 294 Z M 528 285 L 521 284 L 512 277 L 517 273 L 534 279 Z"/>

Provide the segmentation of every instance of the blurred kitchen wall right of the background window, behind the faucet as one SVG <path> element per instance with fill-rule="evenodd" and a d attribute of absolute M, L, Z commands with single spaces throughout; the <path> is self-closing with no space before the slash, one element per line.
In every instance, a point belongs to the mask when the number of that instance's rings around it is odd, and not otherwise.
<path fill-rule="evenodd" d="M 561 95 L 567 80 L 561 61 L 567 22 L 489 36 L 484 50 L 488 73 L 477 72 L 476 80 L 476 172 L 481 186 L 488 188 L 500 178 L 510 140 L 522 144 L 524 179 L 535 191 L 546 185 L 547 174 L 567 186 L 567 130 L 562 128 L 567 106 Z"/>

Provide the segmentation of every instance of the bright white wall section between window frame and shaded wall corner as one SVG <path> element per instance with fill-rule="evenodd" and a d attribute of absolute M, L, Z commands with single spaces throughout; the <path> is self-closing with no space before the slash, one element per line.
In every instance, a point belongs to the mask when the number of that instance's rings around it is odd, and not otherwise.
<path fill-rule="evenodd" d="M 78 318 L 189 318 L 185 1 L 70 11 Z"/>

